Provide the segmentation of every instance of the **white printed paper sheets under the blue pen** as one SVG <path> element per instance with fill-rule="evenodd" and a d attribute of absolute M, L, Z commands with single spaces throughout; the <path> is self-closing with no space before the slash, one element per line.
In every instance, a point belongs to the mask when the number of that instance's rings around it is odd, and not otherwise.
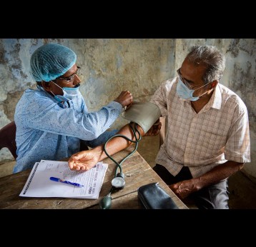
<path fill-rule="evenodd" d="M 98 162 L 89 171 L 72 171 L 67 161 L 41 160 L 34 164 L 19 196 L 97 199 L 107 166 L 107 163 Z M 73 183 L 80 183 L 84 187 L 51 181 L 51 176 Z"/>

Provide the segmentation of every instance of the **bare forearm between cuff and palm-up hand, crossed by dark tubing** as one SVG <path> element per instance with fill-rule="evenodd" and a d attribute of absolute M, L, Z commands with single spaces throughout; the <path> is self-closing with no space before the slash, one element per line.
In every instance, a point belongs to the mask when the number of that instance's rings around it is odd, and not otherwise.
<path fill-rule="evenodd" d="M 134 124 L 133 124 L 134 126 Z M 137 129 L 141 136 L 144 136 L 144 131 L 140 126 L 137 126 Z M 134 133 L 132 132 L 132 128 L 129 126 L 129 124 L 122 127 L 117 134 L 121 134 L 126 136 L 127 138 L 131 139 L 132 141 L 135 141 Z M 139 138 L 139 134 L 137 133 L 137 138 Z M 124 148 L 127 148 L 128 146 L 132 145 L 132 141 L 128 141 L 125 138 L 122 137 L 115 137 L 112 138 L 107 143 L 107 153 L 109 153 L 109 156 L 113 155 L 114 153 L 117 153 Z M 102 161 L 104 158 L 107 158 L 106 153 L 104 152 L 104 145 L 97 146 L 97 148 L 94 148 L 95 151 L 99 153 L 99 161 Z"/>

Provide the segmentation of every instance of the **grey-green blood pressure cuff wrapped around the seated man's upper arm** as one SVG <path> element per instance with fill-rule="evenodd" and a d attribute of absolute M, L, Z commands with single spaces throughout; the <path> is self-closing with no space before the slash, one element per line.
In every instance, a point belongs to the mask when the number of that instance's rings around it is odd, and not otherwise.
<path fill-rule="evenodd" d="M 134 102 L 132 106 L 122 113 L 122 117 L 142 127 L 144 133 L 159 119 L 161 111 L 156 104 L 151 102 Z"/>

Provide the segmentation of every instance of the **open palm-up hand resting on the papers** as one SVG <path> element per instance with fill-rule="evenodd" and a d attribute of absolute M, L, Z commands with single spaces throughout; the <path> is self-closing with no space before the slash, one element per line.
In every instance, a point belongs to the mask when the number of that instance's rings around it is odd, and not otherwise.
<path fill-rule="evenodd" d="M 69 158 L 69 168 L 74 171 L 88 171 L 99 161 L 99 152 L 95 149 L 74 153 Z"/>

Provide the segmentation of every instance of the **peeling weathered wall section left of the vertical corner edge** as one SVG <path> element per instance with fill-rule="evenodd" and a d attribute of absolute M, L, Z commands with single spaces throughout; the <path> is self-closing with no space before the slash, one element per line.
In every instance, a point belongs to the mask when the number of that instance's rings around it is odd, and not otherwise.
<path fill-rule="evenodd" d="M 36 87 L 29 59 L 49 42 L 77 53 L 83 73 L 80 91 L 89 111 L 97 111 L 123 90 L 131 91 L 136 101 L 148 101 L 160 82 L 174 75 L 172 39 L 0 39 L 0 128 L 14 119 L 24 90 Z M 112 128 L 126 123 L 119 117 Z M 4 148 L 0 162 L 8 159 L 11 154 Z"/>

